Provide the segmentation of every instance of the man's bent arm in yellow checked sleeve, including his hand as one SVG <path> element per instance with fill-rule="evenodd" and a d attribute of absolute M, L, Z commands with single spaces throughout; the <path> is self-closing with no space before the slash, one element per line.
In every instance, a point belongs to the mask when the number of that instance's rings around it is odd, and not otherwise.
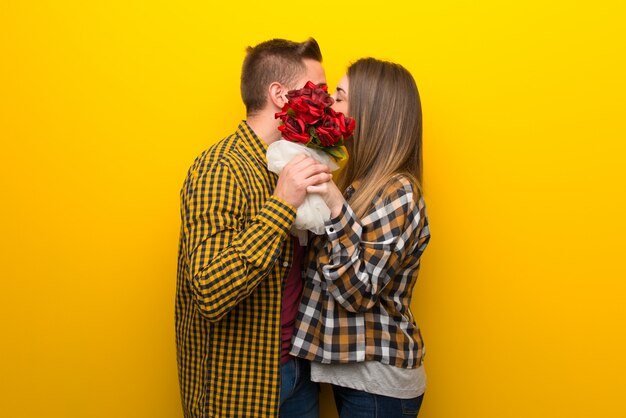
<path fill-rule="evenodd" d="M 306 187 L 329 179 L 327 167 L 310 158 L 294 160 L 247 225 L 247 196 L 227 166 L 218 163 L 187 185 L 182 217 L 188 277 L 196 306 L 209 321 L 221 319 L 269 274 Z"/>

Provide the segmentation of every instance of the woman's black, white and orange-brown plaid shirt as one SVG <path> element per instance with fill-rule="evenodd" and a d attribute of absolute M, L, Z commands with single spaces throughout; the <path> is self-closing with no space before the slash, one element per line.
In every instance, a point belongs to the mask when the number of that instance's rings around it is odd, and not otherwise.
<path fill-rule="evenodd" d="M 424 199 L 405 176 L 394 177 L 362 219 L 344 204 L 309 249 L 291 353 L 418 367 L 424 345 L 410 304 L 429 240 Z"/>

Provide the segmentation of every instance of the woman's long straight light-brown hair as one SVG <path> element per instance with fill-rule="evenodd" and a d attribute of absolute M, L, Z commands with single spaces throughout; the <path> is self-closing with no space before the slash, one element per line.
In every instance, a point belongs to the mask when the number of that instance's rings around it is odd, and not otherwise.
<path fill-rule="evenodd" d="M 421 188 L 422 106 L 415 80 L 399 64 L 363 58 L 348 68 L 348 113 L 356 120 L 346 141 L 350 158 L 339 187 L 359 182 L 349 199 L 362 217 L 376 194 L 403 174 Z M 417 194 L 417 193 L 416 193 Z"/>

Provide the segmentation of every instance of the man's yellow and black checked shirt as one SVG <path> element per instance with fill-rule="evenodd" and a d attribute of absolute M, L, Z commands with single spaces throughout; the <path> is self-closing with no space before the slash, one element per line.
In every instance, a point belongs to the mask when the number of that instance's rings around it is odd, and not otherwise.
<path fill-rule="evenodd" d="M 181 190 L 176 289 L 185 417 L 276 417 L 281 293 L 295 209 L 272 196 L 266 145 L 245 122 L 202 153 Z"/>

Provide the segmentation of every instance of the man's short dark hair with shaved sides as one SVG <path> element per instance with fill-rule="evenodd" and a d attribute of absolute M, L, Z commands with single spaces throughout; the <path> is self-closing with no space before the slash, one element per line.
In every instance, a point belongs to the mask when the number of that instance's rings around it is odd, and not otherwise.
<path fill-rule="evenodd" d="M 307 58 L 322 62 L 322 52 L 313 38 L 304 42 L 272 39 L 248 47 L 241 70 L 241 98 L 248 115 L 263 109 L 271 83 L 293 86 L 306 70 Z"/>

